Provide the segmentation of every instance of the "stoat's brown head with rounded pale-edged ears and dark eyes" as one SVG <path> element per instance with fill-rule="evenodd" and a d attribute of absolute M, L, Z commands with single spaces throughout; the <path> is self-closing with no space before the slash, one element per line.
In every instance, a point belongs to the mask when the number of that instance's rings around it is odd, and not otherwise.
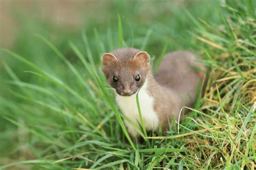
<path fill-rule="evenodd" d="M 121 96 L 135 94 L 150 71 L 149 54 L 132 48 L 104 53 L 102 63 L 109 85 Z"/>

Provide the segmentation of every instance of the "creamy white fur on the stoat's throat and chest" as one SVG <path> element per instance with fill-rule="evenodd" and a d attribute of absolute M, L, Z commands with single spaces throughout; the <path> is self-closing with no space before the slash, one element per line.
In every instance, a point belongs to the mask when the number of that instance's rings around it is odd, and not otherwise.
<path fill-rule="evenodd" d="M 157 130 L 159 125 L 158 115 L 154 112 L 154 99 L 150 96 L 149 92 L 146 89 L 147 80 L 144 83 L 143 87 L 139 91 L 139 105 L 140 111 L 142 112 L 142 118 L 144 121 L 144 126 L 146 130 Z M 119 96 L 116 94 L 117 104 L 119 105 L 121 111 L 129 118 L 136 126 L 140 123 L 139 112 L 136 101 L 136 94 L 132 96 L 125 97 Z M 136 129 L 125 121 L 125 125 L 129 133 L 136 137 L 138 134 Z"/>

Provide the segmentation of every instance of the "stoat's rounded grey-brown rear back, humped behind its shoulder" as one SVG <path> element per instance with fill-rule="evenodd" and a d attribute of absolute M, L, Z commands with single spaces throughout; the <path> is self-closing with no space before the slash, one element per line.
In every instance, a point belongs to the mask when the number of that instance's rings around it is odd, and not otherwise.
<path fill-rule="evenodd" d="M 171 87 L 182 98 L 188 93 L 192 98 L 196 96 L 199 80 L 203 79 L 206 70 L 203 64 L 196 62 L 196 56 L 189 51 L 175 51 L 167 53 L 155 76 L 156 81 L 167 87 Z M 191 106 L 190 97 L 187 96 L 186 105 Z"/>

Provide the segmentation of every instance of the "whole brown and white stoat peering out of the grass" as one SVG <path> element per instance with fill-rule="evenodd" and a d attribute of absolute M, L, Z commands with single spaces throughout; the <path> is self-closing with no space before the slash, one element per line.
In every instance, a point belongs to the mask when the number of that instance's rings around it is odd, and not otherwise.
<path fill-rule="evenodd" d="M 103 69 L 109 85 L 116 92 L 116 101 L 123 114 L 134 124 L 140 123 L 136 102 L 139 90 L 139 104 L 147 131 L 158 131 L 162 122 L 163 131 L 169 128 L 168 120 L 178 120 L 181 107 L 192 106 L 199 80 L 205 70 L 196 62 L 196 56 L 189 51 L 167 53 L 153 76 L 150 56 L 145 51 L 122 48 L 102 56 Z M 185 102 L 184 102 L 185 99 Z M 136 137 L 136 129 L 125 121 L 128 132 Z"/>

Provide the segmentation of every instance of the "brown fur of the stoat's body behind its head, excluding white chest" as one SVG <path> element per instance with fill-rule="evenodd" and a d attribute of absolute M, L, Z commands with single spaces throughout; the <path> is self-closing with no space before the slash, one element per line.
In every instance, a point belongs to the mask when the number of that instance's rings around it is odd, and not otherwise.
<path fill-rule="evenodd" d="M 192 67 L 206 71 L 205 66 L 196 62 L 196 59 L 189 51 L 167 53 L 154 77 L 157 83 L 150 86 L 150 92 L 156 99 L 154 108 L 163 121 L 164 130 L 168 128 L 167 116 L 171 121 L 174 114 L 174 118 L 178 120 L 181 107 L 193 107 L 191 98 L 194 99 L 196 96 L 199 80 L 202 81 L 201 76 L 205 73 L 198 72 Z M 159 91 L 154 90 L 156 87 Z"/>

